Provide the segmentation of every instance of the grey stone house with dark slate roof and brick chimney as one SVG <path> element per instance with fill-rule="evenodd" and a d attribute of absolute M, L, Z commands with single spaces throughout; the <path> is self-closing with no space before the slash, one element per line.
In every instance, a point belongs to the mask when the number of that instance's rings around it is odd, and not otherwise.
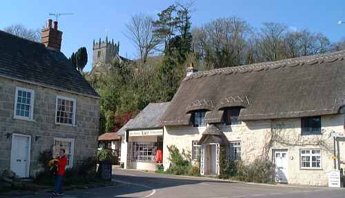
<path fill-rule="evenodd" d="M 60 52 L 57 22 L 42 43 L 0 31 L 0 171 L 41 170 L 39 155 L 66 150 L 67 168 L 95 156 L 99 95 Z"/>

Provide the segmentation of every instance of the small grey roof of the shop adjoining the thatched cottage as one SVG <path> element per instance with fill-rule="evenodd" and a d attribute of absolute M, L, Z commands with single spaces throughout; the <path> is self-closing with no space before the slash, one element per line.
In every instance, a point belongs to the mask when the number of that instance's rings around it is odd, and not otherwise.
<path fill-rule="evenodd" d="M 134 119 L 126 123 L 124 130 L 162 127 L 160 119 L 168 105 L 169 102 L 149 103 Z"/>

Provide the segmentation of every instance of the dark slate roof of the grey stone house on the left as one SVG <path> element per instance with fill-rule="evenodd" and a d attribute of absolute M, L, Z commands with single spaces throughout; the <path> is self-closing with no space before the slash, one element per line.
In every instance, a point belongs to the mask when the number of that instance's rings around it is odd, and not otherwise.
<path fill-rule="evenodd" d="M 1 30 L 0 77 L 99 97 L 63 53 Z"/>

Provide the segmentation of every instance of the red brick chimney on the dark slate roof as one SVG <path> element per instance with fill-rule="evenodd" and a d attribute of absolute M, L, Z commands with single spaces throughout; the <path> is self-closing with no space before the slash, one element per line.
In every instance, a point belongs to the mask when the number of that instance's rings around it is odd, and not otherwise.
<path fill-rule="evenodd" d="M 42 43 L 46 45 L 50 50 L 61 49 L 62 32 L 57 30 L 57 21 L 54 21 L 54 26 L 52 27 L 52 19 L 48 19 L 47 27 L 41 30 Z"/>

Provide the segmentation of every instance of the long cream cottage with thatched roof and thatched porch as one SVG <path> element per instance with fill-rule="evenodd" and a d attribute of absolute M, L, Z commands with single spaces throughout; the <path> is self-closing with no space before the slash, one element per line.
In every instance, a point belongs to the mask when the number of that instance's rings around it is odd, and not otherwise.
<path fill-rule="evenodd" d="M 167 146 L 200 157 L 201 175 L 219 175 L 226 157 L 250 163 L 265 157 L 275 180 L 326 186 L 328 172 L 345 168 L 345 51 L 248 66 L 195 72 L 186 77 L 164 113 Z M 335 158 L 334 153 L 337 155 Z"/>

